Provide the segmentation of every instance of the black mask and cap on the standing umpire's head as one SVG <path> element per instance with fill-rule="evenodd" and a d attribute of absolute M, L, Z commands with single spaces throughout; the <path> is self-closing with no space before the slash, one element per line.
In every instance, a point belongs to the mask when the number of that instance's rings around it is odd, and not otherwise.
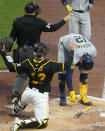
<path fill-rule="evenodd" d="M 36 16 L 40 13 L 40 7 L 35 3 L 35 2 L 29 2 L 26 6 L 25 6 L 25 12 L 26 13 L 33 13 L 36 12 Z"/>

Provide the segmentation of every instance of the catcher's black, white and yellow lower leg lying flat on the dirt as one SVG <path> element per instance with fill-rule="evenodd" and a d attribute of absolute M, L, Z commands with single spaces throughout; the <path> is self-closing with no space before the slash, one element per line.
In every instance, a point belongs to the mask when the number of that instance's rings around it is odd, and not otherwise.
<path fill-rule="evenodd" d="M 19 129 L 24 129 L 24 128 L 42 129 L 47 126 L 48 126 L 48 119 L 44 119 L 43 121 L 39 122 L 37 119 L 32 118 L 29 120 L 18 119 L 15 122 L 14 128 L 15 128 L 15 131 L 18 131 Z"/>

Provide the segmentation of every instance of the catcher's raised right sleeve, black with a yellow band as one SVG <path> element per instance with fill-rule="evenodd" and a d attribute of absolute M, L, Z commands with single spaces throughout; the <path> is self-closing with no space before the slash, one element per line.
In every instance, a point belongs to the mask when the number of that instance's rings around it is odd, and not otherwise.
<path fill-rule="evenodd" d="M 67 69 L 70 69 L 72 62 L 73 62 L 74 51 L 70 51 L 68 57 L 69 59 L 65 63 L 52 62 L 51 63 L 51 72 L 56 73 L 56 72 L 65 71 Z"/>

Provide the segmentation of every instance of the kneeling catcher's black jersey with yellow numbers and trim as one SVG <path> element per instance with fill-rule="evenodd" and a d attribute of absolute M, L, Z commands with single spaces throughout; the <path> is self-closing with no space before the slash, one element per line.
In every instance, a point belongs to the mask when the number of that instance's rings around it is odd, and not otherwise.
<path fill-rule="evenodd" d="M 73 53 L 71 55 L 70 61 L 67 63 L 57 63 L 48 59 L 44 59 L 41 61 L 37 61 L 35 59 L 26 59 L 22 64 L 17 64 L 16 69 L 17 72 L 23 71 L 27 73 L 27 75 L 30 78 L 30 88 L 35 87 L 41 91 L 50 92 L 50 82 L 54 73 L 64 71 L 65 69 L 69 69 L 72 64 L 72 59 Z"/>

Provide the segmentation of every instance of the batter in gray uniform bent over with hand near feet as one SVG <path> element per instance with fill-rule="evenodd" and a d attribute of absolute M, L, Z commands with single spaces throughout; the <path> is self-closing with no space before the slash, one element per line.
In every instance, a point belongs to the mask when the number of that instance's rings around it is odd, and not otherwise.
<path fill-rule="evenodd" d="M 85 37 L 79 34 L 68 34 L 60 38 L 58 46 L 58 62 L 65 62 L 68 60 L 68 43 L 75 43 L 76 49 L 74 50 L 73 64 L 70 70 L 60 72 L 58 75 L 59 89 L 60 89 L 60 105 L 66 105 L 65 97 L 65 81 L 67 82 L 70 102 L 75 102 L 75 91 L 72 85 L 72 74 L 74 66 L 77 65 L 80 70 L 80 103 L 85 105 L 92 105 L 92 102 L 87 98 L 88 88 L 88 71 L 94 65 L 94 58 L 97 55 L 95 46 L 88 41 Z"/>

